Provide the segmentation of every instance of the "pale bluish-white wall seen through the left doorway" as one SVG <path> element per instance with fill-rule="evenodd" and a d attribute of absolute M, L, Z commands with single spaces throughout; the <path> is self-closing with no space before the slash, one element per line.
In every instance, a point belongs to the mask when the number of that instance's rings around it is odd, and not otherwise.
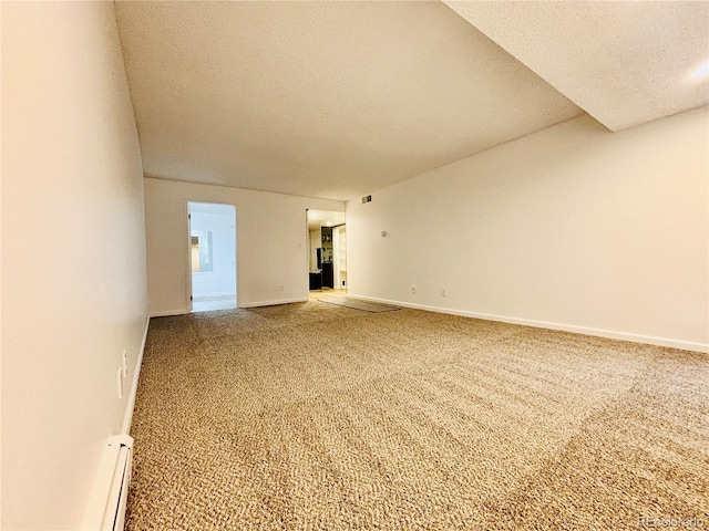
<path fill-rule="evenodd" d="M 196 298 L 236 294 L 236 214 L 229 205 L 192 204 L 191 229 L 212 235 L 212 271 L 192 273 Z M 193 260 L 194 266 L 194 260 Z"/>

